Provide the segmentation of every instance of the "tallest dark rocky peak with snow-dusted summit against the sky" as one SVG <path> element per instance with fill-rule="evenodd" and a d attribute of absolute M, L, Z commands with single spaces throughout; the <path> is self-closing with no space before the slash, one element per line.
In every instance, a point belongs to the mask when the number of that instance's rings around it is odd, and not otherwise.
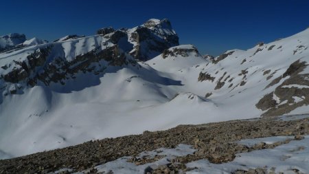
<path fill-rule="evenodd" d="M 101 28 L 96 34 L 111 39 L 122 50 L 140 61 L 148 61 L 170 47 L 179 45 L 179 37 L 168 19 L 149 19 L 135 28 Z"/>

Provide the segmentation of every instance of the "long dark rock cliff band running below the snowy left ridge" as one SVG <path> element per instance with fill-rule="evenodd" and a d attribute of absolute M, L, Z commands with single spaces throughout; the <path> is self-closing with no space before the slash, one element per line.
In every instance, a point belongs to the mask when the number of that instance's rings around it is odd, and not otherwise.
<path fill-rule="evenodd" d="M 107 65 L 121 66 L 135 63 L 133 59 L 127 58 L 128 54 L 119 50 L 117 45 L 113 45 L 104 50 L 92 50 L 86 54 L 76 56 L 73 61 L 56 58 L 45 64 L 52 49 L 51 45 L 38 48 L 38 50 L 27 56 L 24 61 L 14 61 L 12 66 L 16 68 L 5 74 L 3 79 L 8 83 L 25 82 L 30 86 L 36 85 L 38 80 L 47 86 L 51 82 L 65 85 L 64 80 L 76 78 L 78 72 L 100 74 Z M 100 61 L 106 61 L 108 64 L 104 66 Z M 40 69 L 40 72 L 37 71 L 37 68 Z"/>

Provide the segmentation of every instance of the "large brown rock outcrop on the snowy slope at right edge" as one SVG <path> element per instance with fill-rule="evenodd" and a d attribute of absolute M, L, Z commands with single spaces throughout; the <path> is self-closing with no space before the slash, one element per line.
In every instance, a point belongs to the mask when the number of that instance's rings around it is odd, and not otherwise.
<path fill-rule="evenodd" d="M 282 78 L 289 76 L 273 92 L 266 94 L 255 105 L 262 111 L 267 110 L 262 116 L 280 116 L 297 107 L 309 105 L 309 74 L 300 74 L 307 66 L 304 61 L 295 61 L 282 76 L 270 83 L 270 85 L 275 85 Z"/>

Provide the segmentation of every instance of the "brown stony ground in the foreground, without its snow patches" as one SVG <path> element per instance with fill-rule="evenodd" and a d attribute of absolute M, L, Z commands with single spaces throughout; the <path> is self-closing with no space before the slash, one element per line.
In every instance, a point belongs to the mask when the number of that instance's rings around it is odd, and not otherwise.
<path fill-rule="evenodd" d="M 0 173 L 97 173 L 95 166 L 106 164 L 119 157 L 130 156 L 128 162 L 135 165 L 147 164 L 160 160 L 163 156 L 139 157 L 139 153 L 188 144 L 196 149 L 194 153 L 174 157 L 168 164 L 156 168 L 149 166 L 144 171 L 144 173 L 186 173 L 194 169 L 187 168 L 185 164 L 189 162 L 201 159 L 207 159 L 214 164 L 231 162 L 235 159 L 236 153 L 273 149 L 291 141 L 302 140 L 308 134 L 309 117 L 304 115 L 180 125 L 165 131 L 144 131 L 141 135 L 92 140 L 64 149 L 0 160 Z M 243 139 L 282 135 L 292 136 L 271 144 L 260 142 L 246 146 L 237 143 Z M 308 147 L 302 146 L 302 149 L 306 148 Z M 301 173 L 297 168 L 291 168 L 291 172 Z M 261 166 L 261 168 L 250 168 L 248 171 L 236 170 L 234 173 L 266 173 L 266 169 Z"/>

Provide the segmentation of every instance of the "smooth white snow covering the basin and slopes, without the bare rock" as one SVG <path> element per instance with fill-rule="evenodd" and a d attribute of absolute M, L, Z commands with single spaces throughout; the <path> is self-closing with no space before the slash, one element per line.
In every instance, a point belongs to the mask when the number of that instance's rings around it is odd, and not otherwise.
<path fill-rule="evenodd" d="M 102 36 L 89 36 L 53 43 L 53 49 L 67 60 L 72 60 L 98 47 L 103 41 Z M 25 58 L 42 45 L 0 54 L 0 63 L 9 65 L 12 60 Z M 272 45 L 275 46 L 268 50 Z M 304 47 L 294 53 L 299 49 L 298 45 Z M 262 47 L 234 50 L 231 56 L 217 64 L 190 52 L 189 56 L 163 58 L 159 55 L 145 63 L 139 62 L 141 67 L 110 66 L 100 75 L 80 72 L 76 78 L 66 80 L 65 85 L 51 83 L 47 87 L 38 84 L 27 87 L 23 94 L 2 95 L 0 159 L 87 140 L 169 129 L 179 124 L 260 117 L 263 111 L 255 104 L 288 76 L 276 85 L 265 87 L 282 76 L 291 63 L 298 59 L 308 62 L 309 49 L 305 49 L 308 46 L 309 30 L 305 30 Z M 179 47 L 190 48 L 190 45 Z M 258 48 L 262 51 L 256 52 Z M 5 73 L 10 68 L 0 68 L 0 72 Z M 268 69 L 271 72 L 264 75 Z M 239 75 L 242 70 L 247 71 L 246 77 Z M 200 72 L 209 73 L 215 80 L 198 81 Z M 273 74 L 272 77 L 266 80 L 270 74 Z M 222 81 L 227 78 L 225 85 L 214 89 L 222 76 Z M 229 82 L 231 78 L 233 80 Z M 242 80 L 246 81 L 244 85 L 240 85 Z M 231 84 L 232 87 L 229 87 Z M 205 98 L 207 93 L 212 95 Z M 284 102 L 280 98 L 277 100 Z M 303 106 L 295 109 L 293 114 L 308 111 L 309 107 Z"/>

